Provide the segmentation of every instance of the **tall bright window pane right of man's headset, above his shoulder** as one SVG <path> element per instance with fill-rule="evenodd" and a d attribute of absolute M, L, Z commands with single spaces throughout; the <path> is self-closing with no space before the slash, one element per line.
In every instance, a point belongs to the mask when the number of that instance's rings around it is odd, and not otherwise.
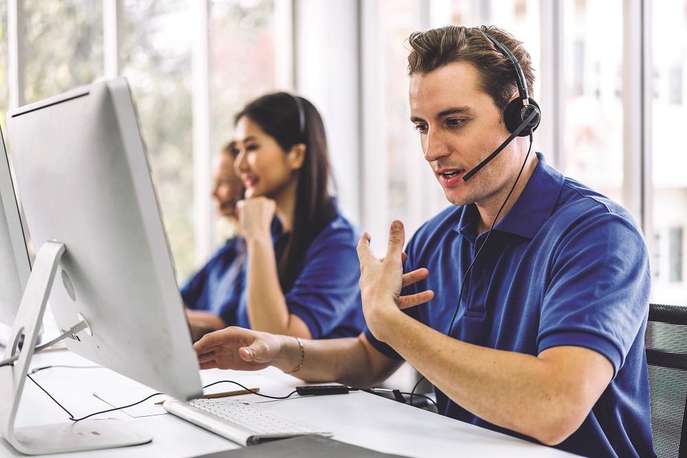
<path fill-rule="evenodd" d="M 563 8 L 561 171 L 622 203 L 622 1 L 566 0 Z"/>

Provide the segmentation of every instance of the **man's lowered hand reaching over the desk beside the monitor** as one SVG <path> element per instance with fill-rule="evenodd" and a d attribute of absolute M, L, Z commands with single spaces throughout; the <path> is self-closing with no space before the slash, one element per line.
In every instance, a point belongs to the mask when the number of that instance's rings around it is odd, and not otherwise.
<path fill-rule="evenodd" d="M 297 341 L 289 336 L 277 336 L 232 326 L 205 334 L 193 347 L 201 369 L 218 367 L 256 371 L 267 366 L 276 366 L 280 369 L 293 367 L 286 354 L 293 353 L 297 359 L 300 358 L 300 351 L 297 348 L 293 349 L 293 352 L 285 351 L 289 344 L 297 346 Z"/>

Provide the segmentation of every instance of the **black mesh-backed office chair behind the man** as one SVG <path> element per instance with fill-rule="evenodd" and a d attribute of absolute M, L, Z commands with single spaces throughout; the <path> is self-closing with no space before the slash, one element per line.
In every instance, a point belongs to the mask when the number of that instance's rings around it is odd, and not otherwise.
<path fill-rule="evenodd" d="M 649 304 L 644 342 L 653 448 L 660 458 L 687 457 L 687 306 Z"/>

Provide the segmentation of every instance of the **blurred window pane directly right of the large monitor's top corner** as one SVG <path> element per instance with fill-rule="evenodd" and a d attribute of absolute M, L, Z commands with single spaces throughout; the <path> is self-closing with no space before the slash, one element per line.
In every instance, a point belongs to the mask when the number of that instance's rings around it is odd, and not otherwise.
<path fill-rule="evenodd" d="M 133 92 L 177 276 L 194 268 L 192 15 L 183 0 L 126 1 L 122 74 Z"/>

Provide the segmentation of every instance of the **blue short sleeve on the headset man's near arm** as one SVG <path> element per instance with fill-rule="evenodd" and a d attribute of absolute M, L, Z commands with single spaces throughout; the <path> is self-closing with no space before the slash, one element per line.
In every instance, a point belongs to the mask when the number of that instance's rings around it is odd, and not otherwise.
<path fill-rule="evenodd" d="M 550 258 L 538 350 L 586 347 L 617 374 L 649 308 L 646 244 L 633 222 L 609 212 L 579 218 L 566 231 Z"/>

